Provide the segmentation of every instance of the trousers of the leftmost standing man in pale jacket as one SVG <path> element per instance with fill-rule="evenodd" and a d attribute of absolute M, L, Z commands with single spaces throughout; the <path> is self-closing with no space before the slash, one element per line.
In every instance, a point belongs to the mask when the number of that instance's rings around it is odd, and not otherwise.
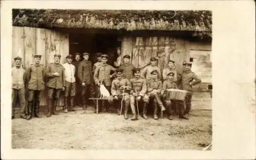
<path fill-rule="evenodd" d="M 20 102 L 20 116 L 26 116 L 25 87 L 20 89 L 12 88 L 12 116 L 14 116 L 14 108 L 16 105 L 17 98 Z"/>

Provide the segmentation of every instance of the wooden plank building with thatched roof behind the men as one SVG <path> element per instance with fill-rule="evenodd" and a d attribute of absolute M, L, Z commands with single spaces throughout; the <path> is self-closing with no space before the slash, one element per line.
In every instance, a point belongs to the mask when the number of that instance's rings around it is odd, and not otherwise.
<path fill-rule="evenodd" d="M 137 67 L 155 56 L 160 57 L 161 70 L 173 59 L 182 72 L 182 62 L 194 59 L 192 70 L 202 78 L 195 90 L 211 83 L 210 11 L 13 9 L 12 15 L 12 57 L 23 57 L 25 69 L 35 53 L 47 67 L 54 54 L 65 63 L 68 54 L 77 52 L 89 52 L 92 62 L 97 52 L 109 54 L 113 62 L 115 48 L 121 47 L 122 55 L 130 55 Z M 40 105 L 46 105 L 45 96 Z"/>

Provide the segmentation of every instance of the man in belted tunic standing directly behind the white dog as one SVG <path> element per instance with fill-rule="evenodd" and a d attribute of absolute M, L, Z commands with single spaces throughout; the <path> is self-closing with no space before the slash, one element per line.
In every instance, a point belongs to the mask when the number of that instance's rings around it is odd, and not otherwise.
<path fill-rule="evenodd" d="M 102 83 L 106 87 L 106 89 L 108 89 L 109 92 L 111 92 L 110 91 L 111 90 L 111 84 L 112 84 L 111 78 L 113 76 L 115 76 L 115 73 L 111 75 L 111 71 L 115 72 L 116 69 L 113 66 L 106 63 L 108 61 L 108 58 L 109 58 L 109 56 L 105 55 L 105 54 L 103 54 L 101 56 L 102 64 L 99 65 L 95 69 L 94 82 L 97 85 L 98 90 L 99 90 L 100 84 Z M 106 107 L 106 111 L 109 112 L 110 111 L 109 110 L 109 105 L 106 104 L 105 101 L 103 101 L 102 104 Z M 100 105 L 99 111 L 102 111 L 102 105 Z"/>

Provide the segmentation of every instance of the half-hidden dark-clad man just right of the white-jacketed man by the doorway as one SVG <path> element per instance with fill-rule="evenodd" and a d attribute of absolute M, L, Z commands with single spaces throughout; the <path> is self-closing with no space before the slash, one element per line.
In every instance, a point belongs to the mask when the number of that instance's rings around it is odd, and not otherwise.
<path fill-rule="evenodd" d="M 81 103 L 81 89 L 79 87 L 79 78 L 78 78 L 78 74 L 77 74 L 77 71 L 78 71 L 78 64 L 80 63 L 81 61 L 81 54 L 80 53 L 76 53 L 75 54 L 75 59 L 74 61 L 72 62 L 72 64 L 75 66 L 75 79 L 76 79 L 76 93 L 75 93 L 75 97 L 74 97 L 74 105 L 80 105 Z"/>

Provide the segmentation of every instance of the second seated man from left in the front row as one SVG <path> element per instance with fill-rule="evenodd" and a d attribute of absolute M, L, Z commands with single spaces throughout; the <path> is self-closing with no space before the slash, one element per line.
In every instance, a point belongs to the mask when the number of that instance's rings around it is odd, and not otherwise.
<path fill-rule="evenodd" d="M 132 84 L 130 105 L 131 105 L 131 109 L 133 112 L 133 117 L 131 118 L 131 120 L 138 119 L 138 115 L 136 115 L 135 101 L 139 102 L 141 100 L 143 100 L 143 102 L 144 102 L 142 117 L 144 119 L 147 119 L 146 107 L 150 101 L 150 98 L 146 95 L 146 80 L 140 77 L 140 68 L 134 68 L 133 74 L 134 74 L 134 77 L 130 79 L 130 82 Z M 139 107 L 139 106 L 137 106 L 137 107 Z"/>

